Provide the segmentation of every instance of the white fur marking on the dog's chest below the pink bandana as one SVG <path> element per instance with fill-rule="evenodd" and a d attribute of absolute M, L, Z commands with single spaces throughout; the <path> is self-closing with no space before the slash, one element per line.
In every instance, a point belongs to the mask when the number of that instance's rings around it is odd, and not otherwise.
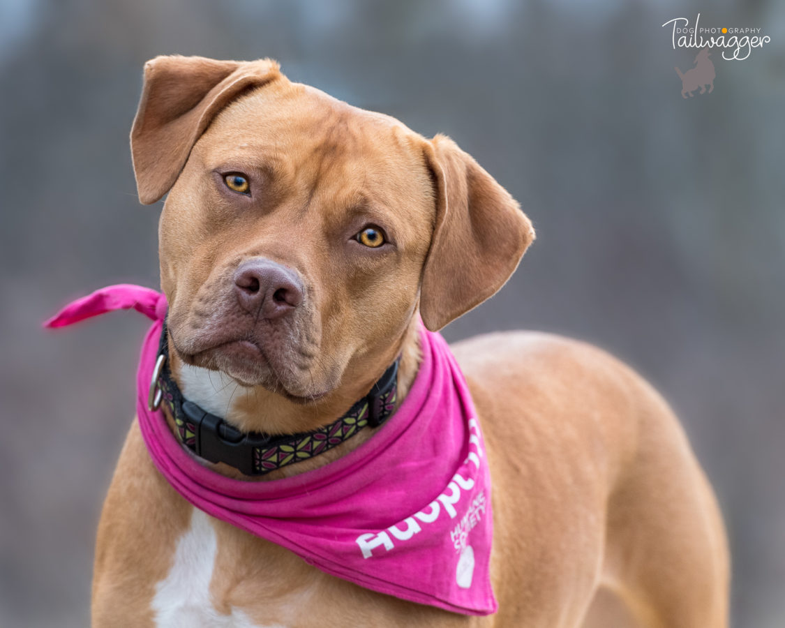
<path fill-rule="evenodd" d="M 284 628 L 259 626 L 242 611 L 222 615 L 210 600 L 217 540 L 210 519 L 193 509 L 191 527 L 177 540 L 169 575 L 155 585 L 152 610 L 158 628 Z"/>

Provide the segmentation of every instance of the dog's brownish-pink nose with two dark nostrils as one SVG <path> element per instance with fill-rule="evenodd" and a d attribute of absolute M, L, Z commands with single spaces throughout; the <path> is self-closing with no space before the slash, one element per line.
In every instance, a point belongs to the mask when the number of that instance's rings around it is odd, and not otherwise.
<path fill-rule="evenodd" d="M 235 293 L 246 312 L 272 320 L 285 316 L 302 303 L 303 287 L 293 270 L 257 257 L 237 267 Z"/>

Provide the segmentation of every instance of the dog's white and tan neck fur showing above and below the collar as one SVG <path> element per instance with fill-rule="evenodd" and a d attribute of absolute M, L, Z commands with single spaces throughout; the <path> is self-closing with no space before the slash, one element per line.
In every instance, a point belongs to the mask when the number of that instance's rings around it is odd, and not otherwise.
<path fill-rule="evenodd" d="M 170 352 L 173 378 L 185 399 L 196 403 L 204 410 L 225 419 L 243 432 L 265 432 L 272 434 L 294 434 L 306 432 L 337 420 L 357 399 L 367 394 L 376 379 L 382 375 L 389 363 L 400 356 L 396 392 L 396 408 L 400 406 L 417 375 L 422 357 L 418 340 L 418 317 L 415 315 L 394 345 L 389 356 L 378 360 L 379 372 L 369 373 L 368 381 L 341 385 L 325 400 L 300 404 L 287 400 L 275 392 L 261 387 L 248 388 L 220 371 L 209 371 L 183 363 L 177 352 Z M 174 430 L 173 417 L 166 411 L 170 429 Z M 394 420 L 394 414 L 389 420 Z M 373 436 L 374 428 L 360 430 L 352 438 L 324 453 L 294 465 L 276 469 L 264 476 L 246 476 L 224 463 L 210 463 L 218 473 L 247 480 L 275 480 L 298 475 L 326 465 L 350 451 L 360 447 Z"/>

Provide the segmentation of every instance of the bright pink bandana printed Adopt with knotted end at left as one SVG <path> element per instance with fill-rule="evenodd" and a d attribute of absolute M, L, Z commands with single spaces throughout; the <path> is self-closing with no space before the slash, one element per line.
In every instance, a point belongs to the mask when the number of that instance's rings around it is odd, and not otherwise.
<path fill-rule="evenodd" d="M 189 455 L 147 398 L 166 298 L 111 286 L 74 301 L 47 327 L 115 309 L 155 323 L 142 345 L 137 412 L 155 466 L 188 502 L 286 547 L 338 578 L 403 600 L 489 615 L 491 482 L 469 389 L 447 343 L 420 327 L 422 363 L 400 408 L 337 461 L 282 480 L 243 481 Z"/>

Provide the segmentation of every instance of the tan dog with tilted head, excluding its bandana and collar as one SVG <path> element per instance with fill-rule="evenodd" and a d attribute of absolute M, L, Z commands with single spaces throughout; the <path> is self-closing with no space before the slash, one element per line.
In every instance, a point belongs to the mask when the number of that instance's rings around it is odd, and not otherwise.
<path fill-rule="evenodd" d="M 399 354 L 400 403 L 418 370 L 418 313 L 431 330 L 461 316 L 534 239 L 447 137 L 289 82 L 268 60 L 152 60 L 131 140 L 142 203 L 169 192 L 173 374 L 243 430 L 326 425 Z M 364 590 L 195 511 L 134 422 L 100 520 L 93 625 L 727 626 L 721 518 L 657 393 L 604 352 L 546 334 L 453 349 L 494 480 L 497 614 Z"/>

